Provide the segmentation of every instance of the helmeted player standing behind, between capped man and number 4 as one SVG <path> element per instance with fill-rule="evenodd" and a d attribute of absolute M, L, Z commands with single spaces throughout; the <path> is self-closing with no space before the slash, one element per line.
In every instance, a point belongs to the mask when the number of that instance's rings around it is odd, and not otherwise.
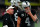
<path fill-rule="evenodd" d="M 17 13 L 21 11 L 20 8 L 18 7 L 19 4 L 20 4 L 20 0 L 11 0 L 11 6 L 15 7 L 14 14 L 13 14 L 13 16 L 14 16 L 13 20 L 15 22 L 15 27 L 17 27 L 17 18 L 18 18 Z"/>

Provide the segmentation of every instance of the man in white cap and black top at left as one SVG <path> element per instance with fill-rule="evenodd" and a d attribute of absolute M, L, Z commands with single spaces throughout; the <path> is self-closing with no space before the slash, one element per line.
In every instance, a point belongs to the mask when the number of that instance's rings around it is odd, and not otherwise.
<path fill-rule="evenodd" d="M 3 27 L 14 27 L 14 22 L 12 20 L 12 14 L 14 14 L 14 7 L 10 6 L 6 9 L 6 14 L 2 16 Z"/>

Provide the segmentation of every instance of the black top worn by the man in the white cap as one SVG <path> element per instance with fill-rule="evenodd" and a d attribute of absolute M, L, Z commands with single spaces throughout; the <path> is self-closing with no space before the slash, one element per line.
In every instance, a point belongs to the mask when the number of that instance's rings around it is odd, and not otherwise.
<path fill-rule="evenodd" d="M 12 16 L 9 15 L 8 13 L 2 16 L 2 20 L 3 20 L 3 26 L 8 25 L 8 27 L 14 27 Z"/>

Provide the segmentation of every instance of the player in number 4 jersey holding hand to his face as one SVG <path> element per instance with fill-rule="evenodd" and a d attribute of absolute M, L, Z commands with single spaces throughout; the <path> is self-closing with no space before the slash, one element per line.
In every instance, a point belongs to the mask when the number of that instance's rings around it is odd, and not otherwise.
<path fill-rule="evenodd" d="M 36 12 L 30 9 L 28 1 L 22 2 L 23 11 L 18 12 L 17 27 L 34 27 L 34 22 L 38 21 Z"/>

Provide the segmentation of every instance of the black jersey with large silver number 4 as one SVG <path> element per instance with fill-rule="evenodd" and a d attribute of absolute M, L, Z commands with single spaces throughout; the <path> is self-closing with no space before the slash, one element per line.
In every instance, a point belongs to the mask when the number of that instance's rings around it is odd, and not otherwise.
<path fill-rule="evenodd" d="M 34 10 L 31 10 L 31 13 L 33 15 L 36 14 Z M 25 13 L 24 11 L 21 11 L 18 13 L 18 16 L 21 18 L 20 27 L 34 27 L 34 21 L 27 13 Z"/>

